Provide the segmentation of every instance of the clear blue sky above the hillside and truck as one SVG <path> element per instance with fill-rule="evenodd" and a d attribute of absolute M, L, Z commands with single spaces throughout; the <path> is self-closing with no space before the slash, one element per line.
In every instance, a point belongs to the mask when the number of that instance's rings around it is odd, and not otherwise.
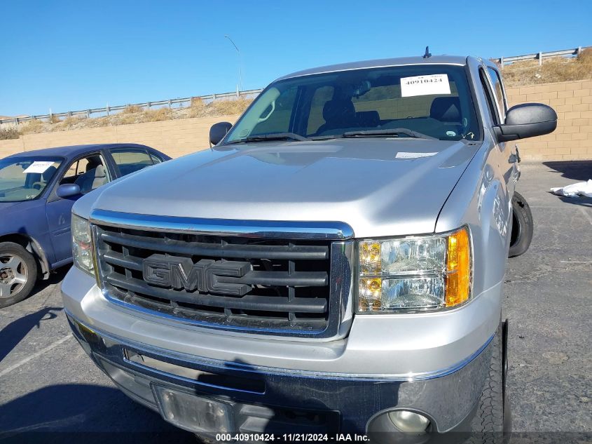
<path fill-rule="evenodd" d="M 336 62 L 592 45 L 581 1 L 3 1 L 0 115 L 165 100 Z"/>

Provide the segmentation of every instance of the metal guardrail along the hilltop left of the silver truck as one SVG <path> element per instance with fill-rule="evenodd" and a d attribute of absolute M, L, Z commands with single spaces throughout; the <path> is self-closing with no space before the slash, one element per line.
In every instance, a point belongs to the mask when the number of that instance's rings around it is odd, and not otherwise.
<path fill-rule="evenodd" d="M 97 113 L 105 113 L 109 116 L 111 112 L 118 112 L 123 111 L 128 107 L 140 107 L 140 108 L 148 108 L 151 107 L 158 107 L 158 106 L 165 106 L 172 108 L 174 105 L 183 105 L 184 103 L 191 105 L 191 100 L 204 100 L 205 102 L 213 102 L 214 100 L 223 100 L 223 99 L 236 99 L 239 97 L 249 97 L 249 96 L 256 96 L 261 93 L 262 89 L 252 89 L 252 90 L 245 90 L 245 91 L 235 91 L 233 93 L 221 93 L 221 94 L 208 94 L 208 95 L 200 95 L 194 97 L 184 97 L 180 99 L 168 99 L 168 100 L 156 100 L 155 102 L 144 102 L 144 103 L 130 103 L 128 105 L 118 105 L 116 107 L 109 107 L 106 106 L 104 108 L 89 108 L 89 109 L 82 109 L 80 111 L 69 111 L 69 112 L 56 112 L 52 114 L 41 114 L 39 116 L 25 116 L 25 117 L 13 117 L 11 119 L 0 119 L 0 125 L 3 123 L 13 123 L 18 125 L 22 122 L 32 121 L 32 120 L 52 120 L 54 118 L 60 119 L 62 117 L 86 117 L 90 118 L 92 114 Z"/>

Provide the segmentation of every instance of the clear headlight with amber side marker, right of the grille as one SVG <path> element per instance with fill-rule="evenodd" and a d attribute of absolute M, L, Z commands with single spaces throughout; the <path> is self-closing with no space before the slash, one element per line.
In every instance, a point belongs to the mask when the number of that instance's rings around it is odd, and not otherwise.
<path fill-rule="evenodd" d="M 467 227 L 359 242 L 359 313 L 447 309 L 471 296 Z"/>

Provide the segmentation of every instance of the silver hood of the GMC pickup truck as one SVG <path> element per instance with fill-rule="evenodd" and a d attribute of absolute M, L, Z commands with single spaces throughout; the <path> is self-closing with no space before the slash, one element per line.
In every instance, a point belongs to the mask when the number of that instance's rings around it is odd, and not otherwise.
<path fill-rule="evenodd" d="M 430 233 L 477 149 L 384 138 L 214 147 L 102 187 L 74 211 L 345 222 L 357 237 Z"/>

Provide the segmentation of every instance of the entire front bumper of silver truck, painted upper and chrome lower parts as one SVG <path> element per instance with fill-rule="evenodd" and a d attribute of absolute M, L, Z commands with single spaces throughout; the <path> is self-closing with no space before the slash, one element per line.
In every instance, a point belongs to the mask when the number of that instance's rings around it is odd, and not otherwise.
<path fill-rule="evenodd" d="M 345 339 L 315 342 L 212 332 L 124 309 L 76 267 L 62 297 L 74 335 L 128 396 L 173 423 L 158 401 L 163 388 L 219 400 L 243 433 L 366 433 L 397 409 L 422 413 L 439 433 L 464 431 L 501 309 L 496 285 L 442 313 L 355 316 Z"/>

